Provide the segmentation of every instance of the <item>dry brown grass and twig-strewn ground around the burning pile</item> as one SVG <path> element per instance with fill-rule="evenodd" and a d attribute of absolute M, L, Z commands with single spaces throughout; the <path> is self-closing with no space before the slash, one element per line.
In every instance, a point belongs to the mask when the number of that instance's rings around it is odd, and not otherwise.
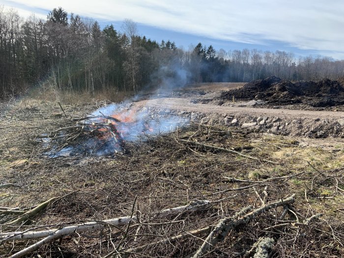
<path fill-rule="evenodd" d="M 64 105 L 69 114 L 82 115 L 105 105 L 105 102 L 90 102 L 84 105 Z M 28 100 L 26 106 L 14 103 L 1 112 L 0 127 L 0 181 L 13 183 L 17 187 L 0 189 L 0 206 L 29 208 L 51 197 L 65 196 L 46 211 L 35 216 L 26 225 L 14 227 L 29 229 L 34 225 L 77 224 L 86 220 L 104 220 L 130 215 L 135 196 L 137 209 L 142 214 L 168 207 L 185 205 L 193 199 L 219 200 L 237 194 L 237 198 L 224 201 L 211 209 L 193 212 L 175 218 L 182 222 L 170 225 L 169 219 L 152 221 L 156 225 L 144 226 L 138 238 L 128 237 L 123 245 L 131 247 L 171 237 L 177 232 L 199 229 L 234 214 L 248 204 L 261 203 L 252 188 L 244 191 L 221 191 L 249 186 L 250 183 L 230 183 L 224 176 L 264 180 L 285 175 L 296 175 L 289 180 L 273 180 L 256 189 L 263 197 L 265 186 L 267 200 L 274 201 L 297 194 L 293 208 L 300 221 L 315 213 L 323 213 L 320 222 L 311 227 L 300 228 L 289 224 L 273 232 L 264 228 L 276 221 L 282 209 L 266 212 L 253 223 L 230 232 L 229 237 L 206 257 L 233 257 L 251 249 L 260 236 L 270 234 L 276 239 L 272 257 L 342 257 L 344 193 L 343 167 L 339 165 L 342 151 L 323 151 L 321 148 L 301 148 L 294 139 L 280 136 L 263 136 L 253 132 L 226 132 L 227 127 L 190 126 L 169 135 L 149 137 L 140 143 L 127 143 L 126 153 L 114 157 L 66 157 L 47 159 L 41 156 L 41 144 L 34 144 L 36 134 L 61 127 L 64 118 L 57 104 L 41 100 Z M 220 133 L 219 133 L 220 132 Z M 227 152 L 207 149 L 177 141 L 191 139 L 234 149 L 260 159 L 271 159 L 280 165 L 261 163 Z M 13 162 L 27 159 L 20 167 L 11 167 Z M 309 164 L 307 163 L 309 162 Z M 342 188 L 343 189 L 343 188 Z M 306 195 L 305 195 L 306 192 Z M 325 199 L 326 197 L 326 199 Z M 0 223 L 9 219 L 0 215 Z M 292 214 L 287 217 L 294 220 Z M 276 222 L 278 223 L 278 222 Z M 160 224 L 160 225 L 159 225 Z M 330 226 L 328 226 L 330 225 Z M 332 228 L 332 230 L 331 230 Z M 41 247 L 29 257 L 104 257 L 114 250 L 123 237 L 121 230 L 109 228 L 84 235 L 72 235 L 61 242 L 52 242 Z M 129 230 L 135 235 L 137 227 Z M 321 231 L 319 231 L 321 230 Z M 334 232 L 334 235 L 332 234 Z M 301 234 L 301 236 L 299 236 Z M 204 239 L 205 236 L 201 236 Z M 336 238 L 337 237 L 337 238 Z M 136 257 L 185 257 L 192 254 L 202 241 L 196 237 L 178 243 L 157 245 L 134 255 Z M 2 257 L 24 248 L 25 241 L 4 244 L 0 247 Z"/>

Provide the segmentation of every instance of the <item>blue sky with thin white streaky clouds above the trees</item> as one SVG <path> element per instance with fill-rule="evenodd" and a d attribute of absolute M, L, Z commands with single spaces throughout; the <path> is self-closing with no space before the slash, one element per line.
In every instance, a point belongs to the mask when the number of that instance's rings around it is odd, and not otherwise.
<path fill-rule="evenodd" d="M 184 49 L 201 42 L 217 50 L 344 59 L 344 0 L 0 0 L 0 5 L 43 19 L 61 6 L 117 30 L 124 19 L 132 19 L 140 35 Z"/>

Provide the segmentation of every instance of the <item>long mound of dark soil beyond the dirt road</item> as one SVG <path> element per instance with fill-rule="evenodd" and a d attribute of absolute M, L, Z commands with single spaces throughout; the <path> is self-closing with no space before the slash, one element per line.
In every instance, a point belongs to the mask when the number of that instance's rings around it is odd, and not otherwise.
<path fill-rule="evenodd" d="M 299 81 L 291 83 L 270 76 L 264 80 L 252 81 L 242 88 L 225 91 L 221 99 L 239 100 L 253 98 L 264 100 L 267 104 L 307 104 L 313 107 L 333 107 L 344 105 L 344 87 L 338 81 L 324 79 L 319 82 Z"/>

